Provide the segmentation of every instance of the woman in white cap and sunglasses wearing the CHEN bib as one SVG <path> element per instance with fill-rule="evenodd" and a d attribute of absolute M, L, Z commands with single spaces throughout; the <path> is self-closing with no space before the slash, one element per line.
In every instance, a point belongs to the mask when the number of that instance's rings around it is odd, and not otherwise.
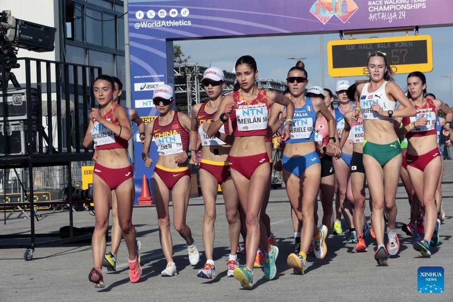
<path fill-rule="evenodd" d="M 145 141 L 141 157 L 147 168 L 153 165 L 149 158 L 149 147 L 154 137 L 159 158 L 153 174 L 153 193 L 159 221 L 159 239 L 167 260 L 167 267 L 161 272 L 163 277 L 177 274 L 173 262 L 173 239 L 170 233 L 170 190 L 173 200 L 173 225 L 186 241 L 189 262 L 196 265 L 200 260 L 192 232 L 186 224 L 187 207 L 190 196 L 190 171 L 188 159 L 190 118 L 172 109 L 173 89 L 165 84 L 154 90 L 153 103 L 159 112 L 154 122 L 146 126 Z"/>

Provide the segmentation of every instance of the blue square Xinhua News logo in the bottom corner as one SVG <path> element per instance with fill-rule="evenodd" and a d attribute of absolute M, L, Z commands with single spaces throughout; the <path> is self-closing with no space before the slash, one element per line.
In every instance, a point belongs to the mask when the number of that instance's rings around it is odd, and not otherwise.
<path fill-rule="evenodd" d="M 442 293 L 444 275 L 441 266 L 420 266 L 417 271 L 417 287 L 420 293 Z"/>

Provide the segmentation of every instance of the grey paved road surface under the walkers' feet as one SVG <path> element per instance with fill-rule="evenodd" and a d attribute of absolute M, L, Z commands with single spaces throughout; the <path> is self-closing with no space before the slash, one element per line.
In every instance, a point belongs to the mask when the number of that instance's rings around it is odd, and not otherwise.
<path fill-rule="evenodd" d="M 214 250 L 218 275 L 214 280 L 196 277 L 205 258 L 202 255 L 199 264 L 191 267 L 184 242 L 174 230 L 175 262 L 179 274 L 174 277 L 161 277 L 160 272 L 165 268 L 166 261 L 159 244 L 156 210 L 154 207 L 139 207 L 134 209 L 133 216 L 142 242 L 143 276 L 139 283 L 129 282 L 124 243 L 119 250 L 118 271 L 105 274 L 106 288 L 101 290 L 93 288 L 87 278 L 92 266 L 90 244 L 70 243 L 37 247 L 32 261 L 24 261 L 25 248 L 1 249 L 0 301 L 451 301 L 453 161 L 445 161 L 445 164 L 442 191 L 446 218 L 440 229 L 441 244 L 438 249 L 433 250 L 429 259 L 421 258 L 412 248 L 412 238 L 401 231 L 402 223 L 408 221 L 409 206 L 404 188 L 400 187 L 397 195 L 397 232 L 402 247 L 398 256 L 389 259 L 388 267 L 376 266 L 372 239 L 367 239 L 368 252 L 354 253 L 355 245 L 346 244 L 345 235 L 336 235 L 327 241 L 328 254 L 325 259 L 317 260 L 309 256 L 306 274 L 294 275 L 292 269 L 286 266 L 286 256 L 293 249 L 289 203 L 284 189 L 275 189 L 271 192 L 268 213 L 272 231 L 280 245 L 278 273 L 274 280 L 267 281 L 263 279 L 262 270 L 255 270 L 253 290 L 244 290 L 234 278 L 226 277 L 229 241 L 223 200 L 219 195 Z M 37 233 L 58 233 L 61 226 L 68 224 L 68 211 L 49 211 L 43 214 L 44 217 L 35 222 Z M 366 214 L 369 216 L 368 208 Z M 0 227 L 0 235 L 29 232 L 30 220 L 16 216 L 13 215 Z M 191 199 L 187 223 L 201 251 L 202 217 L 202 199 Z M 74 226 L 90 226 L 93 222 L 94 216 L 89 212 L 74 213 Z M 16 241 L 0 241 L 2 244 L 13 242 Z M 244 263 L 243 255 L 240 260 Z M 417 270 L 420 266 L 444 268 L 444 293 L 418 293 Z"/>

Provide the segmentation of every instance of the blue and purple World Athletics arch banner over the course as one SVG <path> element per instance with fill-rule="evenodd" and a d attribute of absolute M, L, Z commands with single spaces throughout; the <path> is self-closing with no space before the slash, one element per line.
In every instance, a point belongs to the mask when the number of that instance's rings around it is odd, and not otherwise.
<path fill-rule="evenodd" d="M 129 0 L 132 106 L 145 122 L 156 117 L 151 101 L 153 89 L 161 83 L 174 83 L 172 40 L 451 25 L 451 3 L 451 0 Z M 134 131 L 138 138 L 136 127 Z M 146 169 L 140 162 L 141 150 L 142 144 L 134 139 L 137 197 L 143 174 L 149 178 L 154 171 L 154 166 Z M 150 157 L 156 163 L 154 142 Z"/>

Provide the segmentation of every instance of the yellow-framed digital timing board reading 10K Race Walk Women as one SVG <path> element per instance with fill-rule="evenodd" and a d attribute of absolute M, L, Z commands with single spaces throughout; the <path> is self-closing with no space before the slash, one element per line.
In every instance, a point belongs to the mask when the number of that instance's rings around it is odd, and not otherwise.
<path fill-rule="evenodd" d="M 403 36 L 336 40 L 327 43 L 327 61 L 331 77 L 368 75 L 368 53 L 382 51 L 395 73 L 432 70 L 430 36 Z"/>

